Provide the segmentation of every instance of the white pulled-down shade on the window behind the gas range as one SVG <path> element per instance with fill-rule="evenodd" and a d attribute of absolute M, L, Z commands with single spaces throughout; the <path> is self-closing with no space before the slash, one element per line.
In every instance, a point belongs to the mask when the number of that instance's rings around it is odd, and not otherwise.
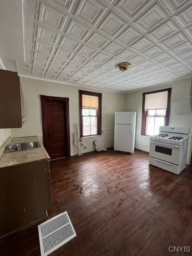
<path fill-rule="evenodd" d="M 145 95 L 145 110 L 167 108 L 168 91 Z"/>

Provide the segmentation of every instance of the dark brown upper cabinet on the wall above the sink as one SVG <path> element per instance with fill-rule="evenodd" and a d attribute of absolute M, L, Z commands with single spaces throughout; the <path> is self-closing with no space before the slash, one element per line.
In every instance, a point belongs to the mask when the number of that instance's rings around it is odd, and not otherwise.
<path fill-rule="evenodd" d="M 0 69 L 0 129 L 21 128 L 24 121 L 24 101 L 18 73 Z"/>

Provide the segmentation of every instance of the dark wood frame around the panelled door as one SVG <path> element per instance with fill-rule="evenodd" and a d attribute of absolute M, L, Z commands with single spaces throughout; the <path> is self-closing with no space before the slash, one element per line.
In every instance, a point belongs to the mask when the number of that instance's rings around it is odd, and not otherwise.
<path fill-rule="evenodd" d="M 70 151 L 70 125 L 69 125 L 69 98 L 46 96 L 46 95 L 40 95 L 40 98 L 41 98 L 43 144 L 47 151 L 48 151 L 48 140 L 47 140 L 48 137 L 47 137 L 47 130 L 46 130 L 46 100 L 62 101 L 65 104 L 67 157 L 70 157 L 71 151 Z"/>

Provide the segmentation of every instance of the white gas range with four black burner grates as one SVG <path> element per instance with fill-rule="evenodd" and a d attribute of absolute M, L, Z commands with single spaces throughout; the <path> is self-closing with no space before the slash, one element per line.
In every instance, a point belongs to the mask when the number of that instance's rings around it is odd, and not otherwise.
<path fill-rule="evenodd" d="M 149 164 L 180 174 L 186 168 L 188 128 L 160 126 L 150 137 Z"/>

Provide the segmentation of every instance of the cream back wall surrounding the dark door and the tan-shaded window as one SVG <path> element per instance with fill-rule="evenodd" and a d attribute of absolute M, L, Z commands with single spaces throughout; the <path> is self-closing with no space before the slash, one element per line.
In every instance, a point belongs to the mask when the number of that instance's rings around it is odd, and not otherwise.
<path fill-rule="evenodd" d="M 70 110 L 70 144 L 71 155 L 74 155 L 73 133 L 76 131 L 76 123 L 79 122 L 79 94 L 78 90 L 88 90 L 102 93 L 102 136 L 84 138 L 83 143 L 87 147 L 82 152 L 94 150 L 92 141 L 97 140 L 99 147 L 114 146 L 114 112 L 124 111 L 125 95 L 101 90 L 85 89 L 77 86 L 69 86 L 54 82 L 46 82 L 31 78 L 21 77 L 24 94 L 26 122 L 22 128 L 12 129 L 12 136 L 37 135 L 42 140 L 42 116 L 40 95 L 59 96 L 69 98 Z"/>

